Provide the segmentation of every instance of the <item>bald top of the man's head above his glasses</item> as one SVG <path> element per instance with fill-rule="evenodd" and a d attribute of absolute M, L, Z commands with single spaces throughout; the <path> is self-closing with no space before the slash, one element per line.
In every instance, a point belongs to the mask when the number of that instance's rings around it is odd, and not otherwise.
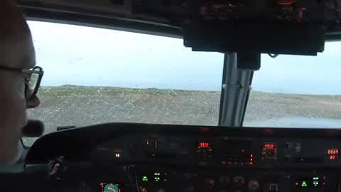
<path fill-rule="evenodd" d="M 31 31 L 12 0 L 0 1 L 0 65 L 33 68 L 36 63 Z"/>

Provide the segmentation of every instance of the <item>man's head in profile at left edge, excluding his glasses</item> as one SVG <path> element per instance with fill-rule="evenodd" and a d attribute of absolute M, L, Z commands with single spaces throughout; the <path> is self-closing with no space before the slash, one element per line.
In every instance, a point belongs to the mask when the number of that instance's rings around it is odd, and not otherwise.
<path fill-rule="evenodd" d="M 26 98 L 20 69 L 36 65 L 31 32 L 11 0 L 0 1 L 0 164 L 11 164 L 21 154 L 20 138 L 27 122 L 26 108 L 39 105 L 36 95 Z M 19 70 L 6 70 L 13 68 Z M 29 90 L 27 90 L 29 91 Z"/>

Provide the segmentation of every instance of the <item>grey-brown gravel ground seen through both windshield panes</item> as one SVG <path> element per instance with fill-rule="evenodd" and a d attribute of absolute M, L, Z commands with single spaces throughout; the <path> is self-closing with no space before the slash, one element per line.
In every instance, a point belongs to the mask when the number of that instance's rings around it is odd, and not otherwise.
<path fill-rule="evenodd" d="M 45 122 L 45 134 L 104 122 L 216 125 L 220 105 L 220 92 L 188 90 L 61 86 L 42 87 L 39 96 L 28 117 Z M 245 122 L 280 117 L 341 119 L 341 96 L 251 92 Z"/>

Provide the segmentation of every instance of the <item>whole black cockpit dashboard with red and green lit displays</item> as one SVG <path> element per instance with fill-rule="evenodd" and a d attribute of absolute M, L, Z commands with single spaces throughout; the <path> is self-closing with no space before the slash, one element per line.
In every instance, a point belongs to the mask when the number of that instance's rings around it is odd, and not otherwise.
<path fill-rule="evenodd" d="M 337 129 L 103 124 L 45 135 L 26 162 L 64 156 L 69 172 L 58 176 L 92 191 L 338 192 L 340 135 Z"/>

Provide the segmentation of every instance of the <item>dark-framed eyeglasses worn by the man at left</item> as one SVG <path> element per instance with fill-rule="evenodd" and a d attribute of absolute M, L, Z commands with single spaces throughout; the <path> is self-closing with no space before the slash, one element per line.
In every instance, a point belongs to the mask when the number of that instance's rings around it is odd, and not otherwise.
<path fill-rule="evenodd" d="M 44 75 L 43 68 L 40 68 L 38 66 L 30 70 L 0 66 L 0 70 L 9 70 L 15 73 L 23 74 L 23 80 L 25 82 L 26 100 L 30 99 L 33 95 L 37 94 L 40 87 L 41 79 L 43 78 Z"/>

